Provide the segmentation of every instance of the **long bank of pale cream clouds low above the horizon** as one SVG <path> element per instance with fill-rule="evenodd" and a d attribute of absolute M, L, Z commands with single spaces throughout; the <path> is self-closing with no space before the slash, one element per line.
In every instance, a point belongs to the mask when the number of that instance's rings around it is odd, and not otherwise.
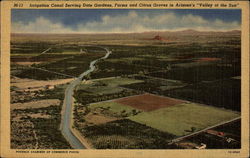
<path fill-rule="evenodd" d="M 60 22 L 53 22 L 44 17 L 38 17 L 28 24 L 14 22 L 12 32 L 30 33 L 113 33 L 113 32 L 145 32 L 145 31 L 166 31 L 166 30 L 234 30 L 240 29 L 237 21 L 226 22 L 220 19 L 207 20 L 202 16 L 187 14 L 177 15 L 175 13 L 163 14 L 139 14 L 130 11 L 123 15 L 103 15 L 99 21 L 88 21 L 65 26 Z"/>

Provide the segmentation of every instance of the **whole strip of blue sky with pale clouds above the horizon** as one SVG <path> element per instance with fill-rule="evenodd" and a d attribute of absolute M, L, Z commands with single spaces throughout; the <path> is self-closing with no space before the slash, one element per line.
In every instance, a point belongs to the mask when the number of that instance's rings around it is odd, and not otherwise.
<path fill-rule="evenodd" d="M 240 30 L 239 9 L 12 9 L 12 33 Z"/>

